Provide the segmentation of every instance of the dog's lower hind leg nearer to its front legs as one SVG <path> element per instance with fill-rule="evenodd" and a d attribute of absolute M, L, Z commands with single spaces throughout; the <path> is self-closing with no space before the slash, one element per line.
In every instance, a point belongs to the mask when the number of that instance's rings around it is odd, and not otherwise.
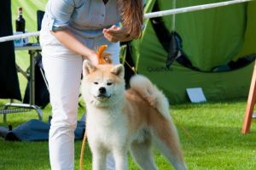
<path fill-rule="evenodd" d="M 149 139 L 142 143 L 133 142 L 131 144 L 131 155 L 143 170 L 157 170 L 150 149 L 151 142 Z"/>

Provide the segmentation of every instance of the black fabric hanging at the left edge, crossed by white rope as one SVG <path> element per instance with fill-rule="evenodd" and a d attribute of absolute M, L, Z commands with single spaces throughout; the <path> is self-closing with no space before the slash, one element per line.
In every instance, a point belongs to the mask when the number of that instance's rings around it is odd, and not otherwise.
<path fill-rule="evenodd" d="M 11 1 L 0 1 L 0 37 L 13 35 Z M 14 42 L 0 42 L 0 99 L 21 100 L 20 86 L 15 66 Z"/>

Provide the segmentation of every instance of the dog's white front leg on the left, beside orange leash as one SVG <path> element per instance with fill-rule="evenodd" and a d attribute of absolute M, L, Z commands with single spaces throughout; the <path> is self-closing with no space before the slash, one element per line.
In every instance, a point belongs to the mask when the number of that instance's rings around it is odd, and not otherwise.
<path fill-rule="evenodd" d="M 105 170 L 106 169 L 106 157 L 105 153 L 101 151 L 93 151 L 92 154 L 92 169 L 93 170 Z"/>

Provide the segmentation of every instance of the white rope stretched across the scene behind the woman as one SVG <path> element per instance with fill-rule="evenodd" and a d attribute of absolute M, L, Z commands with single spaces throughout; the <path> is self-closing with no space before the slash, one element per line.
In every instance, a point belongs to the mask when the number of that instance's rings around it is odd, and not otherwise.
<path fill-rule="evenodd" d="M 155 17 L 166 16 L 166 15 L 171 15 L 171 14 L 188 13 L 188 12 L 207 9 L 207 8 L 217 8 L 217 7 L 227 6 L 227 5 L 236 4 L 236 3 L 245 3 L 245 2 L 249 2 L 249 1 L 253 1 L 253 0 L 232 0 L 232 1 L 221 2 L 221 3 L 209 3 L 209 4 L 204 4 L 204 5 L 196 5 L 196 6 L 192 6 L 192 7 L 163 10 L 163 11 L 159 11 L 159 12 L 144 14 L 144 19 L 146 20 L 149 18 L 155 18 Z M 29 33 L 14 35 L 14 36 L 0 37 L 0 42 L 7 42 L 7 41 L 15 40 L 15 39 L 20 39 L 20 38 L 38 37 L 38 36 L 39 36 L 39 31 L 29 32 Z"/>

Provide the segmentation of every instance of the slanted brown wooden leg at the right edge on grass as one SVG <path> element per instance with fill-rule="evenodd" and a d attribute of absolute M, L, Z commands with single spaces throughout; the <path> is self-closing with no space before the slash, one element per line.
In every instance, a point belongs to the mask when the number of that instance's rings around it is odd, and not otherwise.
<path fill-rule="evenodd" d="M 254 64 L 253 77 L 252 77 L 251 87 L 250 87 L 250 91 L 247 99 L 247 108 L 244 116 L 241 133 L 248 133 L 250 131 L 255 100 L 256 100 L 256 62 Z"/>

